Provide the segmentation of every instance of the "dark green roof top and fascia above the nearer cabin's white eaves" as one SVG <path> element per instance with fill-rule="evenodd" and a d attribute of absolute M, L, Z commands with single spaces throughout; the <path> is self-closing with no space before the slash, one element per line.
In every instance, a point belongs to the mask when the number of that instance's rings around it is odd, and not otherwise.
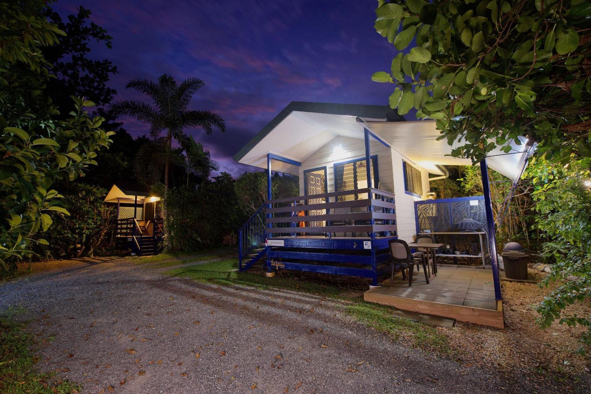
<path fill-rule="evenodd" d="M 271 122 L 267 123 L 261 131 L 256 134 L 241 150 L 234 155 L 233 159 L 239 162 L 246 153 L 256 146 L 262 139 L 271 133 L 275 127 L 288 117 L 293 111 L 322 113 L 332 115 L 356 116 L 369 119 L 387 119 L 390 121 L 404 121 L 404 117 L 398 115 L 389 106 L 372 106 L 368 104 L 337 104 L 337 103 L 312 103 L 309 101 L 291 101 L 287 107 L 281 110 Z"/>

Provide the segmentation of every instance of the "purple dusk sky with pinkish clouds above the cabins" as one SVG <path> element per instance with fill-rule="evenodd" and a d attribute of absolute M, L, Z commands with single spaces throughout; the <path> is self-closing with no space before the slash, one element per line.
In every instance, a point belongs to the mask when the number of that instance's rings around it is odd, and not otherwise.
<path fill-rule="evenodd" d="M 79 5 L 113 37 L 112 50 L 95 45 L 90 57 L 118 67 L 116 100 L 149 102 L 125 89 L 134 77 L 205 82 L 191 108 L 220 114 L 228 131 L 190 133 L 233 175 L 252 168 L 232 155 L 290 101 L 385 105 L 393 88 L 370 79 L 397 52 L 374 30 L 375 0 L 59 0 L 54 9 L 65 19 Z M 119 120 L 133 136 L 148 133 Z"/>

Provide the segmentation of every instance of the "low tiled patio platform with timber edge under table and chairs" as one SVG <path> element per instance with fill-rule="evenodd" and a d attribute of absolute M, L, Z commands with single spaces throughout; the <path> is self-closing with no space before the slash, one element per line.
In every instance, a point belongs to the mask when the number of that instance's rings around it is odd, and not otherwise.
<path fill-rule="evenodd" d="M 422 268 L 414 272 L 411 287 L 398 272 L 394 283 L 388 278 L 381 287 L 366 291 L 363 299 L 401 310 L 504 328 L 502 301 L 495 300 L 492 270 L 438 267 L 437 275 L 431 274 L 429 284 Z"/>

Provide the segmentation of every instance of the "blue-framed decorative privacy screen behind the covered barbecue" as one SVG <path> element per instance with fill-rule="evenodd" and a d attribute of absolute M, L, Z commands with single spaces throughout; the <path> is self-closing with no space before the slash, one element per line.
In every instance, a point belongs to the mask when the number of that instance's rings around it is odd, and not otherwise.
<path fill-rule="evenodd" d="M 417 234 L 421 232 L 460 231 L 455 228 L 462 219 L 473 219 L 483 224 L 486 235 L 483 239 L 485 254 L 489 254 L 488 226 L 486 225 L 486 211 L 484 196 L 445 198 L 439 200 L 415 201 L 415 219 Z M 478 242 L 478 236 L 454 237 L 453 235 L 436 235 L 436 241 L 449 244 L 460 251 L 469 251 L 470 243 Z"/>

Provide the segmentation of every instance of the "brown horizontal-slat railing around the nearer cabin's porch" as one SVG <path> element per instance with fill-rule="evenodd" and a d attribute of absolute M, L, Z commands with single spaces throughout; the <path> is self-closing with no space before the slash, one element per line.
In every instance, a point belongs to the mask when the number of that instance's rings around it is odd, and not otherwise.
<path fill-rule="evenodd" d="M 339 201 L 346 196 L 367 198 Z M 324 202 L 318 202 L 322 201 Z M 352 233 L 396 235 L 394 195 L 378 189 L 280 198 L 267 201 L 268 237 L 298 234 Z M 298 216 L 298 214 L 303 216 Z M 300 226 L 300 224 L 305 224 Z"/>

